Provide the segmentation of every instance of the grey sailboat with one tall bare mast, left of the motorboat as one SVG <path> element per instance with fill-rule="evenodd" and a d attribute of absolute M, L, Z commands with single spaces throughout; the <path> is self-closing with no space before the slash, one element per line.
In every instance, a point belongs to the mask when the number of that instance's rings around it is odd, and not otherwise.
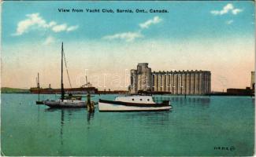
<path fill-rule="evenodd" d="M 69 95 L 65 97 L 65 90 L 63 85 L 63 42 L 61 44 L 61 97 L 58 100 L 44 100 L 43 104 L 50 108 L 87 108 L 87 101 L 81 100 L 81 97 L 74 97 Z"/>

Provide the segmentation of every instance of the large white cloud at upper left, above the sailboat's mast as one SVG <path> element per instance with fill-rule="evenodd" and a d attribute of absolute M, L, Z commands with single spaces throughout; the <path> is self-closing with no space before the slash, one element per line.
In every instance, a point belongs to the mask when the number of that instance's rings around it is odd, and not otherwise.
<path fill-rule="evenodd" d="M 32 27 L 51 29 L 54 32 L 60 31 L 74 31 L 78 26 L 68 26 L 68 24 L 57 24 L 55 21 L 50 21 L 48 24 L 46 20 L 43 19 L 39 13 L 27 14 L 27 19 L 20 20 L 17 24 L 17 30 L 13 35 L 23 35 L 24 33 L 30 31 Z"/>

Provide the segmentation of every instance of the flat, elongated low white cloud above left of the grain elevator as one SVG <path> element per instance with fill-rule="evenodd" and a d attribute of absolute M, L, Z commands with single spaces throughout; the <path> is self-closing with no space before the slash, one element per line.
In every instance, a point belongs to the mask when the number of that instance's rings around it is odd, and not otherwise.
<path fill-rule="evenodd" d="M 126 42 L 132 42 L 135 38 L 143 38 L 143 35 L 140 32 L 124 32 L 118 33 L 115 35 L 106 35 L 104 39 L 113 40 L 113 39 L 124 39 Z"/>

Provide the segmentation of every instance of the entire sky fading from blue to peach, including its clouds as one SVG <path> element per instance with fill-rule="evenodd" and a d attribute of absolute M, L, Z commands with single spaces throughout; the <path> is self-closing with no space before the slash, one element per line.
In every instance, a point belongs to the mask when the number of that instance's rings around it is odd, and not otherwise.
<path fill-rule="evenodd" d="M 83 13 L 58 12 L 73 8 Z M 86 13 L 85 9 L 169 13 Z M 254 70 L 254 2 L 3 2 L 2 86 L 34 86 L 39 71 L 48 75 L 45 84 L 58 87 L 58 79 L 50 74 L 58 73 L 61 41 L 76 86 L 80 86 L 77 75 L 85 68 L 91 74 L 118 74 L 148 62 L 156 71 L 210 70 L 216 90 L 242 88 L 249 86 Z M 235 72 L 244 77 L 234 80 Z M 13 75 L 19 81 L 8 79 Z M 225 86 L 218 81 L 220 75 L 228 80 Z"/>

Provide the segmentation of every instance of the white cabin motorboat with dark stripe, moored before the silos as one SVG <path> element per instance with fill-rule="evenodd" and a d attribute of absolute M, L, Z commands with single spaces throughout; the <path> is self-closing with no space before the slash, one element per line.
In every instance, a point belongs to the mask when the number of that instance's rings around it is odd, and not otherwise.
<path fill-rule="evenodd" d="M 98 100 L 98 111 L 169 111 L 169 101 L 155 103 L 151 96 L 116 97 L 115 100 Z"/>

